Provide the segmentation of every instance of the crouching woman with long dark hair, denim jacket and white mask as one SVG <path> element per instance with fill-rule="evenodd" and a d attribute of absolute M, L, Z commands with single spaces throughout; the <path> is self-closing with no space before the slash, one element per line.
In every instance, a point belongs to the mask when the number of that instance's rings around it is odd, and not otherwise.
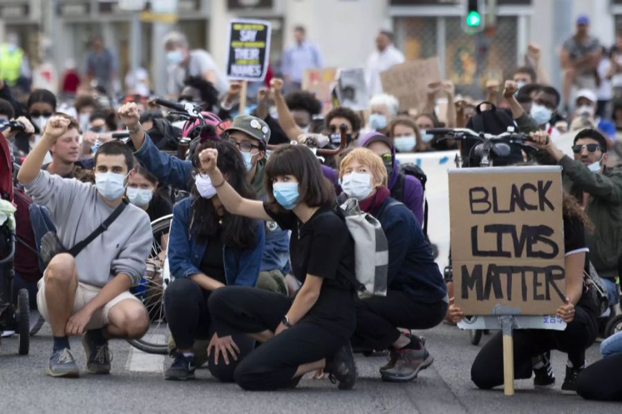
<path fill-rule="evenodd" d="M 198 151 L 218 148 L 218 167 L 227 181 L 246 197 L 253 197 L 244 177 L 240 152 L 227 142 L 207 141 Z M 177 351 L 164 373 L 167 380 L 194 378 L 195 339 L 211 339 L 207 348 L 209 371 L 221 381 L 233 381 L 236 362 L 254 341 L 246 335 L 216 335 L 207 299 L 223 286 L 255 286 L 263 256 L 263 223 L 230 215 L 216 195 L 198 156 L 193 159 L 192 196 L 176 204 L 169 236 L 169 264 L 175 281 L 164 293 L 167 322 Z M 220 352 L 226 349 L 228 352 Z"/>

